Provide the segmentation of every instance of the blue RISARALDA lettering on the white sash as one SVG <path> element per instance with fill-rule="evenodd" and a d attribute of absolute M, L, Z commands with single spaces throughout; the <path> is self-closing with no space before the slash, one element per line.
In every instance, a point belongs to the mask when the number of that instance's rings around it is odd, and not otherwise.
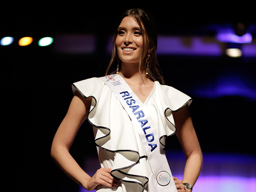
<path fill-rule="evenodd" d="M 127 100 L 126 104 L 129 105 L 130 108 L 132 108 L 132 113 L 134 115 L 138 115 L 136 117 L 137 119 L 140 119 L 140 117 L 144 117 L 144 113 L 143 113 L 142 110 L 135 112 L 138 108 L 140 108 L 139 105 L 131 106 L 132 104 L 135 104 L 136 101 L 131 99 L 132 96 L 130 96 L 130 93 L 128 93 L 127 91 L 124 91 L 124 92 L 121 92 L 120 94 L 123 94 L 122 97 L 124 98 L 124 100 Z M 127 96 L 130 96 L 130 97 L 127 97 Z M 128 100 L 128 99 L 131 99 L 131 100 Z M 146 140 L 148 142 L 154 141 L 154 139 L 155 139 L 154 138 L 154 134 L 153 133 L 149 133 L 149 134 L 146 133 L 146 130 L 151 128 L 151 127 L 150 126 L 144 127 L 144 125 L 148 123 L 148 120 L 147 119 L 145 119 L 145 120 L 138 120 L 138 122 L 140 122 L 140 124 L 141 124 L 140 126 L 141 126 L 141 128 L 142 128 L 142 130 L 143 130 L 143 132 L 145 134 Z M 157 145 L 154 144 L 154 143 L 148 143 L 148 146 L 151 147 L 151 149 L 150 149 L 151 152 L 157 147 Z"/>

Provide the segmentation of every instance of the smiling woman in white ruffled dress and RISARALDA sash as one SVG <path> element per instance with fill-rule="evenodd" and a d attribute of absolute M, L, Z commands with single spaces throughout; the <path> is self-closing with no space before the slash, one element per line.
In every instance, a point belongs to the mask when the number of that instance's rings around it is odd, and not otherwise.
<path fill-rule="evenodd" d="M 157 68 L 156 40 L 146 12 L 125 12 L 108 67 L 117 66 L 118 75 L 107 70 L 106 77 L 73 84 L 75 96 L 54 136 L 51 156 L 87 190 L 184 192 L 191 191 L 198 178 L 202 152 L 188 111 L 191 98 L 158 82 L 164 81 Z M 119 91 L 127 85 L 129 93 Z M 101 164 L 92 177 L 69 154 L 86 118 L 93 125 Z M 164 154 L 165 137 L 174 133 L 187 159 L 182 180 L 172 177 Z"/>

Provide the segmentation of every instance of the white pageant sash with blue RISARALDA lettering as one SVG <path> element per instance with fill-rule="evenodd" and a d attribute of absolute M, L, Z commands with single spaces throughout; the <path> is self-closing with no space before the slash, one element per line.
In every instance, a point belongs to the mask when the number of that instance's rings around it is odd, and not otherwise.
<path fill-rule="evenodd" d="M 142 101 L 120 75 L 114 74 L 99 79 L 116 94 L 140 134 L 155 181 L 148 183 L 150 188 L 154 191 L 157 188 L 158 192 L 177 192 L 166 156 L 160 152 L 159 136 L 154 122 Z"/>

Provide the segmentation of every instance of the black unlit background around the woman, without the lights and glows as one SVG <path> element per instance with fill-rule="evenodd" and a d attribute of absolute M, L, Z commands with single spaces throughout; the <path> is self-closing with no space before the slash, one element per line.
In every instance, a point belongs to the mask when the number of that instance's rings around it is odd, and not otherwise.
<path fill-rule="evenodd" d="M 159 34 L 179 36 L 214 36 L 210 24 L 238 21 L 255 24 L 255 9 L 184 8 L 174 4 L 140 6 L 156 19 Z M 121 12 L 134 7 L 115 3 L 111 6 L 80 5 L 65 9 L 27 8 L 18 14 L 1 17 L 1 36 L 13 36 L 14 43 L 1 46 L 2 151 L 4 185 L 19 191 L 76 191 L 71 181 L 50 157 L 51 142 L 73 97 L 71 84 L 93 76 L 103 76 L 109 55 L 107 38 L 114 32 Z M 82 8 L 82 9 L 81 9 Z M 61 54 L 53 45 L 39 47 L 32 43 L 17 45 L 18 39 L 31 36 L 37 42 L 43 36 L 58 34 L 94 34 L 97 50 L 93 54 Z M 255 31 L 252 34 L 255 38 Z M 54 44 L 54 43 L 53 43 Z M 206 56 L 159 56 L 166 84 L 193 98 L 190 106 L 203 153 L 238 153 L 255 156 L 256 101 L 237 95 L 215 99 L 194 95 L 191 87 L 214 82 L 219 74 L 235 71 L 256 87 L 256 59 Z M 182 71 L 182 72 L 180 72 Z M 255 99 L 255 97 L 254 97 Z M 71 147 L 78 163 L 85 156 L 97 156 L 93 132 L 88 122 L 80 128 Z M 168 149 L 180 150 L 175 136 Z M 3 185 L 3 186 L 4 186 Z"/>

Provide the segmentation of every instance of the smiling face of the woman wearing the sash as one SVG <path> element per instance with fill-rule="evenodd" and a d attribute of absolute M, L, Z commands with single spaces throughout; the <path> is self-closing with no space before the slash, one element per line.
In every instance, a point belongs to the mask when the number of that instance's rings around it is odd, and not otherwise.
<path fill-rule="evenodd" d="M 148 47 L 145 41 L 145 47 Z M 119 59 L 126 63 L 140 63 L 140 58 L 144 59 L 147 53 L 143 53 L 143 37 L 139 24 L 131 17 L 125 17 L 117 29 L 116 49 Z"/>

